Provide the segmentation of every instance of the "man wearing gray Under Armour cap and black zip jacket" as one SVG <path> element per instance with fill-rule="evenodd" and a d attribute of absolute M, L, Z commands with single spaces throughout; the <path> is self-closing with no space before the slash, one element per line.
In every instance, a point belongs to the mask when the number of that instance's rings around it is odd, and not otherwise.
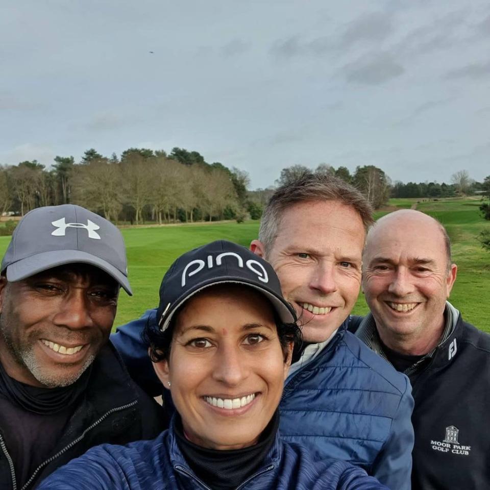
<path fill-rule="evenodd" d="M 0 489 L 27 490 L 92 446 L 165 428 L 106 344 L 119 288 L 132 294 L 114 225 L 79 206 L 35 209 L 0 274 Z"/>

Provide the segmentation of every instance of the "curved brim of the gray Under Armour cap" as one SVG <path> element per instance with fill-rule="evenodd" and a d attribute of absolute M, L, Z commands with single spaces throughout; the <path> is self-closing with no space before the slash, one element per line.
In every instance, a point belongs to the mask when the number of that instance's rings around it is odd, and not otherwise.
<path fill-rule="evenodd" d="M 7 280 L 9 282 L 21 281 L 22 279 L 34 276 L 34 274 L 57 267 L 58 265 L 77 262 L 99 267 L 104 272 L 109 274 L 109 276 L 114 278 L 129 296 L 133 295 L 128 278 L 122 274 L 119 269 L 100 257 L 96 257 L 95 255 L 91 255 L 80 250 L 57 250 L 43 252 L 41 254 L 32 255 L 30 257 L 26 257 L 25 259 L 18 260 L 17 262 L 7 266 Z"/>

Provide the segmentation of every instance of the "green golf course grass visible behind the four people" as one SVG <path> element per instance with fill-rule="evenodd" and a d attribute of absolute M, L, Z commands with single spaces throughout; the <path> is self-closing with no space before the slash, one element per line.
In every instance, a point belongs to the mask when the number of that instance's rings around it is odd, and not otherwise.
<path fill-rule="evenodd" d="M 390 209 L 406 208 L 416 200 L 390 200 Z M 463 317 L 490 332 L 490 253 L 476 240 L 490 223 L 479 215 L 478 200 L 448 199 L 420 202 L 417 209 L 437 217 L 447 228 L 453 242 L 453 260 L 458 277 L 451 301 Z M 376 217 L 388 211 L 379 211 Z M 244 246 L 257 237 L 259 223 L 212 223 L 181 226 L 123 228 L 129 261 L 133 297 L 121 292 L 115 325 L 130 321 L 158 303 L 158 289 L 168 266 L 183 252 L 216 239 L 228 239 Z M 0 255 L 10 237 L 0 236 Z M 367 312 L 362 294 L 354 313 Z"/>

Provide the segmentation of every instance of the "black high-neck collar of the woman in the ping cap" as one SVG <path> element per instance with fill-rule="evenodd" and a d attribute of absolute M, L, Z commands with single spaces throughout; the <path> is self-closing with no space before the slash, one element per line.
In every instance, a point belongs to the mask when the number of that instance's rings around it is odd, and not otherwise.
<path fill-rule="evenodd" d="M 179 449 L 195 475 L 213 490 L 233 490 L 259 470 L 274 444 L 278 426 L 279 410 L 276 410 L 257 444 L 243 449 L 219 451 L 191 443 L 184 435 L 180 416 L 176 414 L 174 418 Z"/>

